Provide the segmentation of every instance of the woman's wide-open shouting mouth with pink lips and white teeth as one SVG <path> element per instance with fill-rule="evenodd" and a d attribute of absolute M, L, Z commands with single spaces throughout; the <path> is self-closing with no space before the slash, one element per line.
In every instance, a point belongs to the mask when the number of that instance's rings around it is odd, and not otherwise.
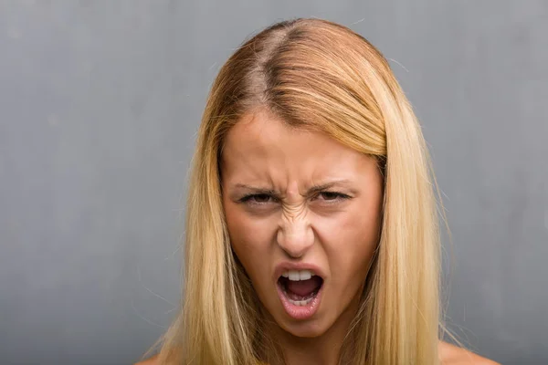
<path fill-rule="evenodd" d="M 311 270 L 289 270 L 278 279 L 283 307 L 292 318 L 310 318 L 320 305 L 323 279 Z"/>

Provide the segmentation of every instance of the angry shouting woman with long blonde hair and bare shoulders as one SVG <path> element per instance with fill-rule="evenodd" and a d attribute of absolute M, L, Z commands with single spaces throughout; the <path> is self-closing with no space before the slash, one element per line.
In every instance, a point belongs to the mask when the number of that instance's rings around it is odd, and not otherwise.
<path fill-rule="evenodd" d="M 248 40 L 193 163 L 182 312 L 142 364 L 492 363 L 439 341 L 427 147 L 362 36 L 296 19 Z"/>

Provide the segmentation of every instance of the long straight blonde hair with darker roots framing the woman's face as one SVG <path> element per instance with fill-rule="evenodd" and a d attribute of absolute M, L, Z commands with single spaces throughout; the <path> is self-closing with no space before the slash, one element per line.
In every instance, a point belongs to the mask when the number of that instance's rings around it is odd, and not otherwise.
<path fill-rule="evenodd" d="M 437 363 L 440 245 L 435 179 L 420 126 L 374 46 L 347 27 L 304 18 L 253 36 L 213 84 L 187 200 L 183 306 L 163 337 L 160 363 L 281 361 L 231 249 L 221 201 L 225 136 L 258 107 L 293 128 L 321 130 L 383 168 L 382 232 L 345 339 L 350 363 Z"/>

